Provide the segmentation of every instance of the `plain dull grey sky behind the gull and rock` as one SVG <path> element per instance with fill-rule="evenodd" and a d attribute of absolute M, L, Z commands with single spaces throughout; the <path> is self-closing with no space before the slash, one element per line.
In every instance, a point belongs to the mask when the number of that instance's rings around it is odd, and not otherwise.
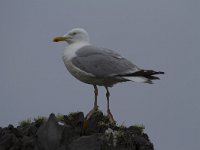
<path fill-rule="evenodd" d="M 52 42 L 82 27 L 93 44 L 166 72 L 154 85 L 110 89 L 118 124 L 144 124 L 157 150 L 200 149 L 199 6 L 198 0 L 1 0 L 0 126 L 92 108 L 93 87 L 66 70 L 67 45 Z M 106 112 L 105 89 L 99 92 Z"/>

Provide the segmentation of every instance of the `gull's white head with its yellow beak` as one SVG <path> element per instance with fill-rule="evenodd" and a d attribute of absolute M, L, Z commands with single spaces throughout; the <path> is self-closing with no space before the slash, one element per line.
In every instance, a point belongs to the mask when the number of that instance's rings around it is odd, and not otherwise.
<path fill-rule="evenodd" d="M 53 39 L 54 42 L 66 41 L 68 44 L 72 44 L 75 42 L 87 42 L 89 43 L 89 35 L 87 31 L 82 28 L 74 28 L 67 32 L 64 36 L 55 37 Z"/>

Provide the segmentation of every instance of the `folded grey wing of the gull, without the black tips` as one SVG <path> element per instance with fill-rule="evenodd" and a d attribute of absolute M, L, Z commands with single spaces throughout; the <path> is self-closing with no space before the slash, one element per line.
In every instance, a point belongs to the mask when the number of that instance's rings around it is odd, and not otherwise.
<path fill-rule="evenodd" d="M 139 70 L 130 61 L 109 49 L 85 46 L 76 55 L 72 58 L 73 65 L 96 77 L 125 75 Z"/>

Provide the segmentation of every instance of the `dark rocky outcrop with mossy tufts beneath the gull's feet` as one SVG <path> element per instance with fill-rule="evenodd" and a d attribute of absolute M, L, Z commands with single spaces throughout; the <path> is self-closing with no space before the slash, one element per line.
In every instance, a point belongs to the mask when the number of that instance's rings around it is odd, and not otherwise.
<path fill-rule="evenodd" d="M 0 150 L 153 150 L 142 126 L 109 124 L 102 112 L 82 112 L 0 128 Z"/>

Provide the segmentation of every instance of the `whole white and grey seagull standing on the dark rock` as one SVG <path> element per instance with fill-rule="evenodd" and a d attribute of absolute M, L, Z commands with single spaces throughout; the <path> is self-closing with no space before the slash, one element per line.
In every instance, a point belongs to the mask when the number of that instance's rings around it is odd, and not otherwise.
<path fill-rule="evenodd" d="M 89 34 L 82 28 L 74 28 L 64 36 L 55 37 L 53 41 L 68 43 L 63 55 L 66 68 L 76 79 L 94 87 L 94 107 L 86 115 L 86 120 L 98 110 L 97 86 L 105 87 L 107 116 L 111 123 L 116 123 L 110 111 L 108 88 L 126 81 L 152 84 L 152 80 L 159 79 L 155 75 L 164 74 L 161 71 L 141 69 L 113 50 L 92 45 Z"/>

